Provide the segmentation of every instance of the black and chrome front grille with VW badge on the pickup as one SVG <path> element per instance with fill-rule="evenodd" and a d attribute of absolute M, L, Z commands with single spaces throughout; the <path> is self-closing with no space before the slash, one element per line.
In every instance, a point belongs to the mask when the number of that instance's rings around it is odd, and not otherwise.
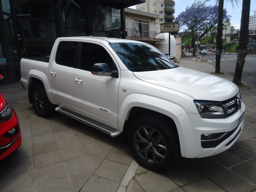
<path fill-rule="evenodd" d="M 240 92 L 238 92 L 236 96 L 221 102 L 221 104 L 226 110 L 227 117 L 236 113 L 236 111 L 241 108 L 241 103 L 242 97 Z"/>

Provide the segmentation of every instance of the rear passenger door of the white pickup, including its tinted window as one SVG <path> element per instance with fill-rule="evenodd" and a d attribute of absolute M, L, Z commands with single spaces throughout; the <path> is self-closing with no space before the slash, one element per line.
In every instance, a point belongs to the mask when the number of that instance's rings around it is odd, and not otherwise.
<path fill-rule="evenodd" d="M 60 41 L 55 61 L 49 67 L 52 94 L 56 102 L 66 108 L 75 108 L 74 65 L 79 40 Z"/>

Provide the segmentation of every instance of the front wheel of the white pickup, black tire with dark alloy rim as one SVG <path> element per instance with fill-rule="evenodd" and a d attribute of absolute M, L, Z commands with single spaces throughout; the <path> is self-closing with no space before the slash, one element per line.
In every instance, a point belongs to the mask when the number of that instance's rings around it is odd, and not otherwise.
<path fill-rule="evenodd" d="M 161 118 L 143 116 L 135 120 L 129 131 L 129 146 L 140 165 L 161 171 L 180 158 L 180 145 L 175 125 Z"/>

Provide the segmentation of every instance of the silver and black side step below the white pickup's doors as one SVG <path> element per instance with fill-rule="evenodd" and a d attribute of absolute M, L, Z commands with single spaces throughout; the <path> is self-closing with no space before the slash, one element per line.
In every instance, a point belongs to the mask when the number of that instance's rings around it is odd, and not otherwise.
<path fill-rule="evenodd" d="M 84 124 L 90 125 L 90 126 L 96 128 L 96 129 L 98 129 L 98 130 L 100 130 L 100 131 L 102 131 L 104 133 L 107 133 L 111 137 L 116 137 L 116 136 L 121 135 L 120 131 L 113 131 L 113 130 L 110 130 L 110 129 L 106 128 L 106 127 L 103 127 L 103 126 L 100 126 L 98 124 L 95 124 L 95 123 L 85 119 L 84 117 L 79 116 L 79 114 L 76 114 L 73 111 L 70 111 L 70 110 L 68 110 L 66 108 L 63 108 L 61 106 L 58 106 L 55 110 L 57 112 L 60 112 L 60 113 L 62 113 L 64 115 L 66 115 L 66 116 L 69 116 L 69 117 L 71 117 L 73 119 L 76 119 L 76 120 L 78 120 L 78 121 L 80 121 L 80 122 L 82 122 Z"/>

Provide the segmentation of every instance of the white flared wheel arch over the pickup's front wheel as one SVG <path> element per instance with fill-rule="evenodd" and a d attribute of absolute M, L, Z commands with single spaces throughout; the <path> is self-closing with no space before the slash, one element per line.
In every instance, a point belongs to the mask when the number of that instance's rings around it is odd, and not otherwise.
<path fill-rule="evenodd" d="M 176 103 L 139 93 L 128 95 L 119 106 L 117 120 L 121 132 L 124 128 L 124 122 L 128 119 L 133 107 L 150 109 L 172 119 L 186 113 L 185 109 Z"/>

